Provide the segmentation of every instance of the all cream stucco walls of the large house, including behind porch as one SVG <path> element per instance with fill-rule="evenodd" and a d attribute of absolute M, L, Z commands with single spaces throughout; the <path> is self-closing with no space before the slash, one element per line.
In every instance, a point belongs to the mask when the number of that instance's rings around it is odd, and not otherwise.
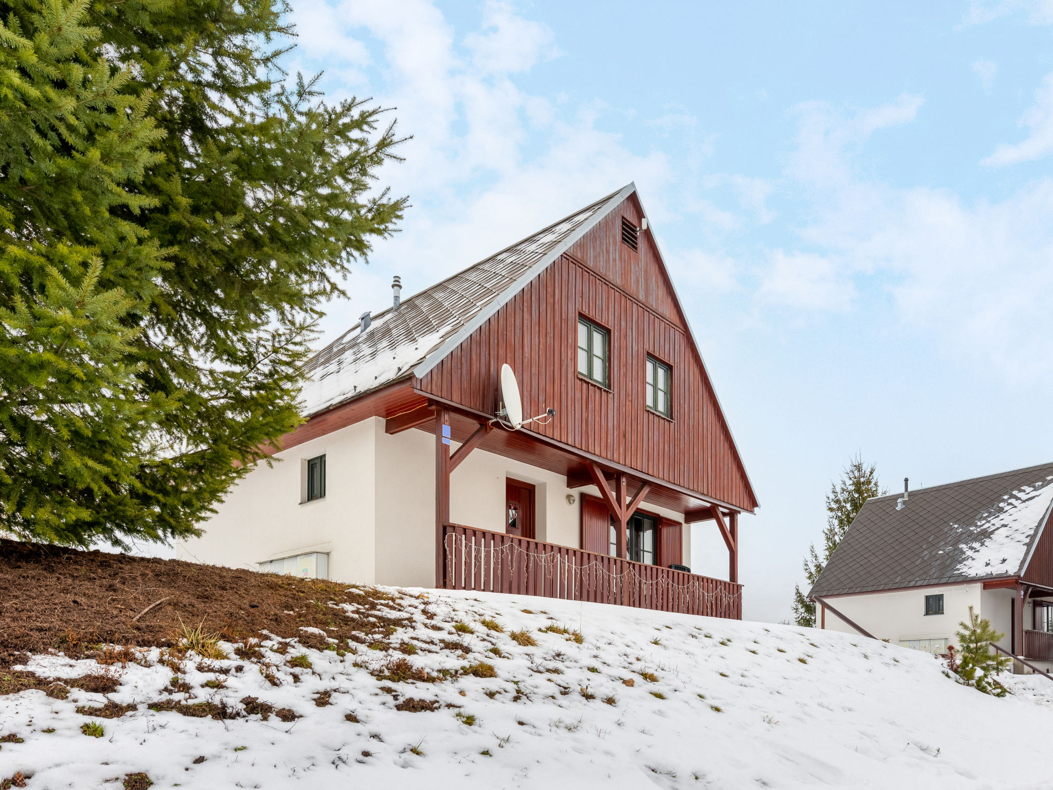
<path fill-rule="evenodd" d="M 322 454 L 325 497 L 301 502 L 305 461 Z M 571 490 L 563 475 L 482 450 L 451 476 L 451 520 L 502 532 L 509 477 L 536 487 L 537 539 L 580 546 L 581 497 L 598 496 L 595 486 Z M 667 508 L 644 503 L 643 510 L 683 520 Z M 202 537 L 177 545 L 179 558 L 256 569 L 264 560 L 320 551 L 330 555 L 334 579 L 431 587 L 435 438 L 419 430 L 389 435 L 384 420 L 371 417 L 278 453 L 273 467 L 257 463 L 217 511 L 201 525 Z M 682 535 L 687 564 L 691 530 Z"/>

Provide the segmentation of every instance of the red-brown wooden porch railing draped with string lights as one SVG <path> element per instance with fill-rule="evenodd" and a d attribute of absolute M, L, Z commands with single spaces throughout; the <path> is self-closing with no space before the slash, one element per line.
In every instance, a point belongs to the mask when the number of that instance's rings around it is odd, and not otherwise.
<path fill-rule="evenodd" d="M 444 587 L 742 618 L 742 586 L 607 554 L 449 525 Z"/>

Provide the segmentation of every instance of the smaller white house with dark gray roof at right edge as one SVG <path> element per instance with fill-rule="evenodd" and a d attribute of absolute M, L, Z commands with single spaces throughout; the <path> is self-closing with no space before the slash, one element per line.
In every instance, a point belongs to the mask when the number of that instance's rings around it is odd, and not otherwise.
<path fill-rule="evenodd" d="M 809 593 L 817 625 L 945 653 L 973 607 L 1053 666 L 1051 481 L 1046 463 L 868 499 Z"/>

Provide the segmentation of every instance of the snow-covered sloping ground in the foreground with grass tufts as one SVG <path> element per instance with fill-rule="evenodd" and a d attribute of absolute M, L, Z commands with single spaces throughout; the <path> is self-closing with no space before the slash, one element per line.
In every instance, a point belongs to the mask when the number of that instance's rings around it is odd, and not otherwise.
<path fill-rule="evenodd" d="M 395 613 L 412 619 L 381 647 L 410 641 L 415 654 L 293 645 L 282 655 L 266 640 L 264 663 L 280 686 L 252 661 L 217 661 L 230 670 L 222 674 L 199 671 L 190 656 L 175 679 L 192 690 L 173 694 L 173 669 L 155 648 L 142 653 L 150 666 L 110 668 L 121 686 L 108 697 L 0 696 L 0 735 L 23 739 L 2 743 L 0 779 L 20 771 L 33 790 L 120 788 L 139 771 L 155 788 L 1053 786 L 1044 758 L 1053 683 L 1041 677 L 1010 677 L 1014 693 L 996 699 L 945 677 L 927 654 L 862 637 L 551 598 L 390 592 Z M 455 631 L 457 623 L 474 633 Z M 553 624 L 579 631 L 581 644 L 539 631 Z M 517 645 L 515 629 L 538 646 Z M 291 665 L 299 655 L 310 669 Z M 399 658 L 450 676 L 410 684 L 371 674 Z M 496 677 L 458 674 L 480 661 Z M 47 655 L 27 669 L 61 678 L 99 667 Z M 316 706 L 326 691 L 332 704 Z M 301 717 L 245 715 L 247 696 Z M 138 709 L 117 718 L 75 712 L 107 698 Z M 397 711 L 408 698 L 440 707 Z M 163 699 L 224 700 L 240 717 L 146 707 Z M 93 720 L 102 737 L 81 733 Z"/>

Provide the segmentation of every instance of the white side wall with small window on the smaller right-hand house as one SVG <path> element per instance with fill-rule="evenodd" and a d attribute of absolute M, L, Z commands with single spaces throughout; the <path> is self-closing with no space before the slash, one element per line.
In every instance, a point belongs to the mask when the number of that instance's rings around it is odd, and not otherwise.
<path fill-rule="evenodd" d="M 980 582 L 948 585 L 946 587 L 919 587 L 910 590 L 838 595 L 829 598 L 831 606 L 866 629 L 878 639 L 893 645 L 901 641 L 947 639 L 955 645 L 958 623 L 969 618 L 972 606 L 982 614 Z M 990 591 L 989 591 L 990 592 Z M 943 614 L 926 614 L 927 595 L 943 595 Z M 818 614 L 818 613 L 817 613 Z M 858 633 L 829 609 L 826 628 L 831 631 Z"/>

